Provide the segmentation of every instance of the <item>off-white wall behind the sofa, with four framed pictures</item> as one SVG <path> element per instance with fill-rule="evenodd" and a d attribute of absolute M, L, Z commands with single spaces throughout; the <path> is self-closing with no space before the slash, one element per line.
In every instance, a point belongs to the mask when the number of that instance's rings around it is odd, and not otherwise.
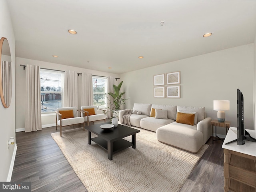
<path fill-rule="evenodd" d="M 172 53 L 170 53 L 172 54 Z M 253 76 L 254 44 L 238 46 L 192 58 L 169 62 L 141 70 L 120 74 L 125 97 L 129 98 L 126 108 L 134 102 L 203 106 L 207 116 L 217 118 L 213 100 L 230 100 L 226 120 L 236 127 L 236 89 L 244 95 L 245 126 L 254 129 Z M 180 98 L 154 98 L 153 76 L 180 71 Z M 225 135 L 222 128 L 218 134 Z"/>

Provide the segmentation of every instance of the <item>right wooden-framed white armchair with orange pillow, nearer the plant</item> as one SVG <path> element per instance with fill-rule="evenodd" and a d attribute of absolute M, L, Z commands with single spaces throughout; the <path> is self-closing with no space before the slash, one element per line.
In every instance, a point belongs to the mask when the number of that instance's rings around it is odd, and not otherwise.
<path fill-rule="evenodd" d="M 104 120 L 106 122 L 106 110 L 97 109 L 97 106 L 82 106 L 81 107 L 81 116 L 84 117 L 84 122 L 87 122 L 89 126 L 89 122 L 94 123 L 94 121 Z"/>

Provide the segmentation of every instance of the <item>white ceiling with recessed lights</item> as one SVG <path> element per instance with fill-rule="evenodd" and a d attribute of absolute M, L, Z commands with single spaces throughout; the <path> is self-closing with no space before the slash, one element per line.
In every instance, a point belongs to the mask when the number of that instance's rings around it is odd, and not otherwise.
<path fill-rule="evenodd" d="M 256 0 L 7 2 L 17 57 L 116 74 L 249 44 L 256 34 Z"/>

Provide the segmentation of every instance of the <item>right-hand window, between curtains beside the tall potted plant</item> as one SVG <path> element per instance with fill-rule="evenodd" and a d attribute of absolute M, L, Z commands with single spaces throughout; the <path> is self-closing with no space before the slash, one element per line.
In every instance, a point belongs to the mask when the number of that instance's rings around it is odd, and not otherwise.
<path fill-rule="evenodd" d="M 107 82 L 108 78 L 106 77 L 92 76 L 93 105 L 96 105 L 98 108 L 107 107 Z"/>

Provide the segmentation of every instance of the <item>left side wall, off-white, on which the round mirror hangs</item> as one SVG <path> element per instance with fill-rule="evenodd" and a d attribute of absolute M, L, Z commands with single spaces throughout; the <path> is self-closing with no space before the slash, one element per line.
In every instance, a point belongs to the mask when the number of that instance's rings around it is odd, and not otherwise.
<path fill-rule="evenodd" d="M 14 146 L 8 149 L 8 138 L 15 136 L 15 37 L 6 1 L 0 1 L 0 38 L 7 38 L 12 58 L 12 100 L 9 108 L 0 102 L 0 181 L 7 181 Z"/>

